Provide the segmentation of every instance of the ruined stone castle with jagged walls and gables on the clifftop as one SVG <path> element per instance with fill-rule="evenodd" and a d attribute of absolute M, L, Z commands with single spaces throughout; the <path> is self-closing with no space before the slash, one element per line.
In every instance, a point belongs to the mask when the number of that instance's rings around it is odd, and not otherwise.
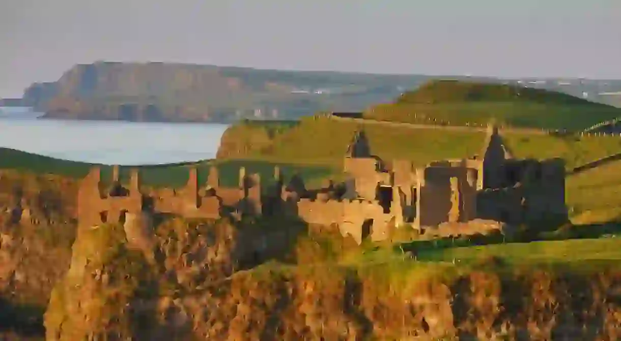
<path fill-rule="evenodd" d="M 120 185 L 115 167 L 111 188 L 102 188 L 99 169 L 82 180 L 78 222 L 94 226 L 124 221 L 125 213 L 150 211 L 187 218 L 297 215 L 307 223 L 336 224 L 356 242 L 389 237 L 389 226 L 433 229 L 449 224 L 463 228 L 475 219 L 518 225 L 537 219 L 566 219 L 565 167 L 562 159 L 515 159 L 490 127 L 481 153 L 467 159 L 434 161 L 415 167 L 408 160 L 390 164 L 371 154 L 364 131 L 358 131 L 343 160 L 346 180 L 307 190 L 299 177 L 284 185 L 278 167 L 268 188 L 258 174 L 240 169 L 237 187 L 222 187 L 216 167 L 207 184 L 189 169 L 184 188 L 141 192 L 137 170 L 129 188 Z"/>

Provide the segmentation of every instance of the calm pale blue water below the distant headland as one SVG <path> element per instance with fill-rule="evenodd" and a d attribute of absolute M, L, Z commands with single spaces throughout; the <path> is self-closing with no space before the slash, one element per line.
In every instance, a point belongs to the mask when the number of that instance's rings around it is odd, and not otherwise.
<path fill-rule="evenodd" d="M 0 107 L 0 147 L 72 161 L 138 165 L 215 157 L 227 125 L 43 120 Z"/>

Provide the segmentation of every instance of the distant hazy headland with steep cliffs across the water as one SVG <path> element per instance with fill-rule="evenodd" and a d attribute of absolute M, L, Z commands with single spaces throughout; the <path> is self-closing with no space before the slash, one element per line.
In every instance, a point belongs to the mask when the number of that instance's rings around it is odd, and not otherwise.
<path fill-rule="evenodd" d="M 317 110 L 362 110 L 398 95 L 419 76 L 304 73 L 175 63 L 79 64 L 35 83 L 22 103 L 49 118 L 139 122 L 234 122 L 297 118 Z M 313 89 L 333 87 L 331 95 Z M 293 93 L 308 88 L 310 93 Z"/>

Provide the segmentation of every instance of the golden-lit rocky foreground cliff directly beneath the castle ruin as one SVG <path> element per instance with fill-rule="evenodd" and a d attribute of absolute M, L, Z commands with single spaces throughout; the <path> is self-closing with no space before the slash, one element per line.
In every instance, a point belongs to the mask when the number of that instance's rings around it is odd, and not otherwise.
<path fill-rule="evenodd" d="M 45 315 L 48 340 L 621 337 L 618 271 L 481 268 L 450 278 L 399 273 L 399 280 L 387 278 L 383 266 L 236 271 L 240 230 L 229 223 L 173 219 L 156 226 L 148 239 L 154 262 L 129 242 L 133 229 L 100 226 L 78 234 L 72 270 Z"/>

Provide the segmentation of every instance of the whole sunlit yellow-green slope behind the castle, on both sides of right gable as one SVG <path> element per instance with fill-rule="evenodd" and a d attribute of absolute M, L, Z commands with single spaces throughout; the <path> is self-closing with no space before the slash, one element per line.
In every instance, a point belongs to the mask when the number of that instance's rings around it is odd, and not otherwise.
<path fill-rule="evenodd" d="M 231 130 L 242 128 L 235 126 Z M 247 151 L 237 154 L 240 159 L 319 164 L 339 169 L 343 155 L 354 132 L 364 128 L 371 142 L 371 151 L 386 161 L 410 159 L 418 166 L 430 161 L 469 157 L 481 154 L 485 133 L 437 129 L 388 128 L 383 125 L 329 120 L 325 117 L 304 118 L 298 125 L 280 126 L 266 133 L 265 128 L 245 126 L 233 136 Z M 263 136 L 261 146 L 253 134 Z M 546 159 L 562 157 L 567 168 L 610 154 L 621 153 L 619 136 L 584 136 L 561 138 L 532 133 L 503 132 L 505 143 L 519 158 Z M 258 140 L 257 140 L 258 141 Z M 253 146 L 255 148 L 253 148 Z"/>

